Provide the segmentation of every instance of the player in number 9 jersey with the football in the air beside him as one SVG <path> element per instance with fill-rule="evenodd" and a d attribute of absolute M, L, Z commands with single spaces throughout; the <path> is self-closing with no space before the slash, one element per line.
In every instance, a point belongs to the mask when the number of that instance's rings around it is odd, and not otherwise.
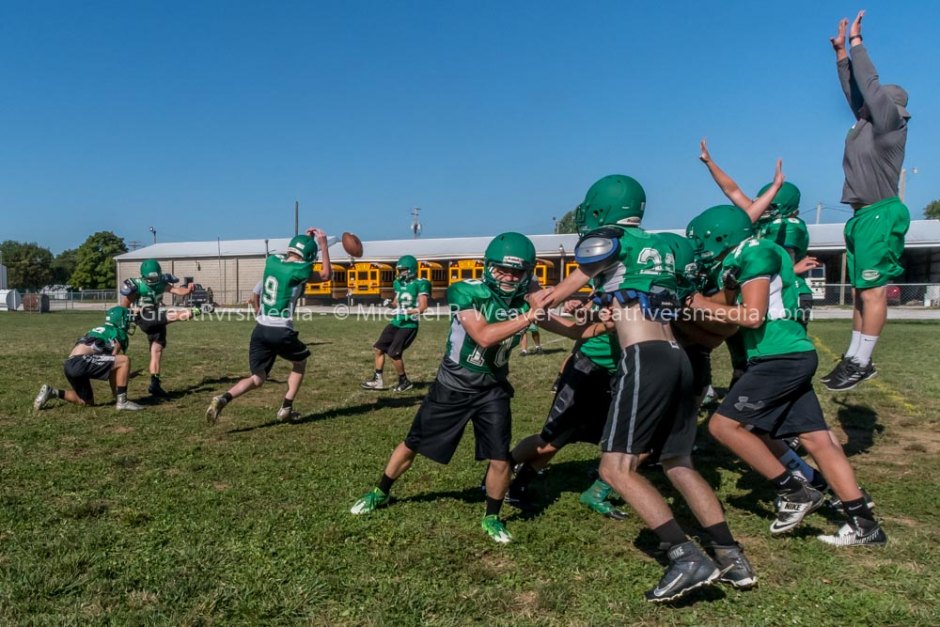
<path fill-rule="evenodd" d="M 314 270 L 317 249 L 321 254 L 321 269 Z M 304 380 L 310 349 L 297 337 L 294 330 L 294 305 L 309 282 L 329 281 L 333 276 L 326 233 L 320 229 L 307 229 L 305 235 L 296 235 L 287 245 L 287 255 L 269 255 L 264 264 L 264 276 L 255 288 L 255 328 L 248 345 L 248 365 L 251 374 L 228 392 L 216 396 L 206 410 L 206 421 L 212 425 L 219 420 L 222 410 L 233 399 L 264 385 L 278 357 L 291 362 L 293 368 L 287 377 L 287 393 L 277 410 L 278 420 L 291 420 L 297 415 L 294 399 Z"/>

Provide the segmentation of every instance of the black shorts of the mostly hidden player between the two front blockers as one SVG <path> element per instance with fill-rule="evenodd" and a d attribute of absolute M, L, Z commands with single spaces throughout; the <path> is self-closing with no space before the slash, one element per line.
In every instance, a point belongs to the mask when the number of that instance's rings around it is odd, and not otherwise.
<path fill-rule="evenodd" d="M 539 438 L 556 448 L 571 442 L 598 444 L 610 411 L 613 375 L 575 351 L 558 379 L 558 391 Z"/>

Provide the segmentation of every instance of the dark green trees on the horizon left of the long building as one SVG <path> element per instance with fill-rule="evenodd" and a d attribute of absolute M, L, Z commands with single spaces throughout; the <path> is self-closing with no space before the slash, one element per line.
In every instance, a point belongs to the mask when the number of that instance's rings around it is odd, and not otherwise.
<path fill-rule="evenodd" d="M 90 235 L 78 248 L 58 255 L 36 242 L 6 240 L 0 243 L 7 285 L 37 290 L 47 285 L 83 289 L 114 289 L 117 264 L 114 257 L 127 252 L 124 239 L 111 231 Z"/>

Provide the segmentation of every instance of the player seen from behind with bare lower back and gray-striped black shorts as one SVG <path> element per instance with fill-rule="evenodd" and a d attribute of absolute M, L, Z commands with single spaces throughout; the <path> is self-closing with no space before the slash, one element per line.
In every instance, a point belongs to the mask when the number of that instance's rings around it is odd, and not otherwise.
<path fill-rule="evenodd" d="M 576 211 L 579 267 L 554 289 L 563 301 L 592 278 L 613 314 L 621 357 L 601 439 L 600 475 L 633 507 L 667 548 L 669 564 L 646 599 L 678 599 L 719 578 L 736 587 L 756 576 L 728 528 L 721 504 L 692 465 L 696 414 L 692 371 L 670 327 L 676 315 L 675 260 L 664 239 L 640 228 L 646 193 L 629 176 L 606 176 L 591 186 Z M 696 546 L 659 491 L 638 471 L 655 452 L 714 550 Z M 717 560 L 717 563 L 716 563 Z"/>

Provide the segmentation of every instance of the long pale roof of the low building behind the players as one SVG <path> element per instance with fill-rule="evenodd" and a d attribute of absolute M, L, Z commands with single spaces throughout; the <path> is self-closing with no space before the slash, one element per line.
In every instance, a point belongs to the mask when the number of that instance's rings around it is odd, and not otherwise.
<path fill-rule="evenodd" d="M 810 250 L 842 250 L 845 248 L 845 238 L 842 234 L 844 224 L 809 224 Z M 655 232 L 670 232 L 683 234 L 679 229 L 657 229 Z M 557 257 L 561 254 L 574 253 L 578 236 L 570 234 L 561 235 L 530 235 L 535 244 L 535 251 L 539 257 Z M 448 237 L 448 238 L 419 238 L 398 240 L 369 240 L 364 241 L 362 259 L 365 261 L 378 261 L 394 263 L 403 254 L 411 254 L 419 259 L 474 259 L 482 258 L 492 236 L 485 237 Z M 208 242 L 161 242 L 138 248 L 128 253 L 118 255 L 119 261 L 136 261 L 142 259 L 192 259 L 215 257 L 262 257 L 266 253 L 283 253 L 287 250 L 290 238 L 243 239 L 243 240 L 216 240 Z M 348 262 L 349 255 L 343 250 L 337 238 L 330 237 L 330 259 L 337 262 Z M 914 220 L 907 233 L 908 248 L 940 247 L 940 220 Z"/>

